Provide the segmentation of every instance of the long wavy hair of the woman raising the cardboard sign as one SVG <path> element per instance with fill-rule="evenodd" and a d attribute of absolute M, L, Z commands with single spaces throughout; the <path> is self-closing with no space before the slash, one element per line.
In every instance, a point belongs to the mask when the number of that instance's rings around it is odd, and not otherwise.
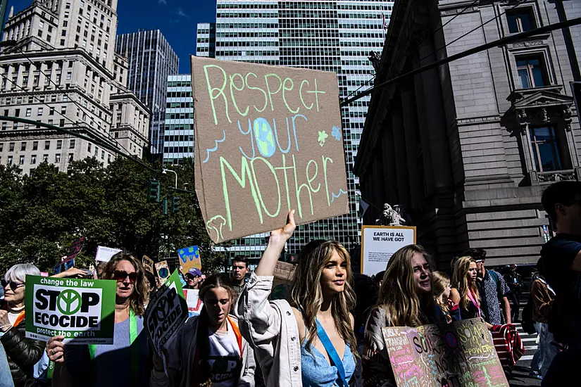
<path fill-rule="evenodd" d="M 293 285 L 290 291 L 290 305 L 303 312 L 307 329 L 306 346 L 317 337 L 317 312 L 323 304 L 323 289 L 320 277 L 323 268 L 337 252 L 346 262 L 344 291 L 335 294 L 331 301 L 331 314 L 335 320 L 335 329 L 351 350 L 357 348 L 357 340 L 351 327 L 349 310 L 355 307 L 355 292 L 351 287 L 351 257 L 343 245 L 337 241 L 317 240 L 308 243 L 299 254 L 299 265 L 294 270 Z M 356 353 L 356 351 L 354 352 Z"/>

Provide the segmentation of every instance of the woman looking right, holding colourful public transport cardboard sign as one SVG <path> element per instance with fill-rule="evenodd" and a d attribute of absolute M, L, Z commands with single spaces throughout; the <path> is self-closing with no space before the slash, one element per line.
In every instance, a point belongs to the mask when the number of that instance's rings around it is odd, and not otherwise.
<path fill-rule="evenodd" d="M 365 329 L 363 386 L 396 386 L 382 328 L 437 322 L 443 317 L 432 292 L 432 259 L 418 245 L 397 250 L 383 276 L 377 307 Z"/>

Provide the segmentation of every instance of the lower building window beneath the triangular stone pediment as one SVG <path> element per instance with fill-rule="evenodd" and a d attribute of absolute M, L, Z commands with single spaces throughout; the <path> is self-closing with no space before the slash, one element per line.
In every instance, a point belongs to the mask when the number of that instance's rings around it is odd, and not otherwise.
<path fill-rule="evenodd" d="M 532 127 L 529 130 L 532 156 L 535 159 L 537 172 L 562 170 L 563 164 L 555 127 Z"/>

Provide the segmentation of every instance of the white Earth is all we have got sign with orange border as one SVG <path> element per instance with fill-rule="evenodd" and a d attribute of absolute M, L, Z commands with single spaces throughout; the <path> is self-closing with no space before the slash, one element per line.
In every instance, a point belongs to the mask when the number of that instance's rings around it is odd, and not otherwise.
<path fill-rule="evenodd" d="M 413 243 L 416 243 L 416 227 L 363 226 L 361 273 L 372 276 L 385 270 L 397 250 Z"/>

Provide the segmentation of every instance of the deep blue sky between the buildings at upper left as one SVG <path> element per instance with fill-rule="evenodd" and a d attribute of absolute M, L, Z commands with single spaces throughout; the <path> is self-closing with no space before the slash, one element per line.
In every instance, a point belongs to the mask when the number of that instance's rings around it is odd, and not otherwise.
<path fill-rule="evenodd" d="M 31 0 L 8 0 L 15 12 Z M 196 53 L 196 25 L 215 21 L 215 0 L 118 0 L 118 34 L 159 29 L 180 57 L 180 73 L 189 72 L 189 55 Z"/>

